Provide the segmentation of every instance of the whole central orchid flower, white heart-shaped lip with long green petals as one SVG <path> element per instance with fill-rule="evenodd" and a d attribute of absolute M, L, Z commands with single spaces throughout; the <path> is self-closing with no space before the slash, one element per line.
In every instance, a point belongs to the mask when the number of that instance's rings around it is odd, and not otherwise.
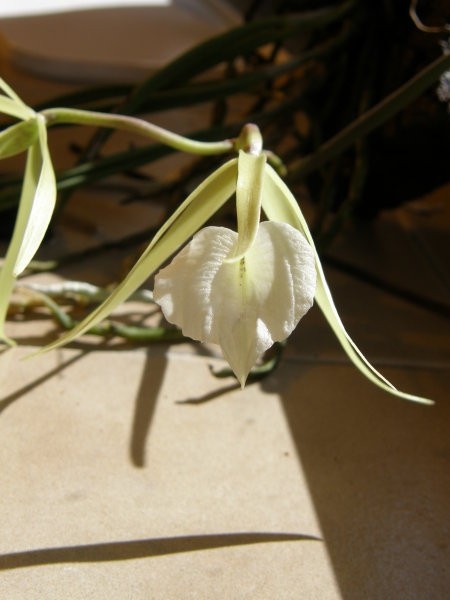
<path fill-rule="evenodd" d="M 253 131 L 254 133 L 254 131 Z M 259 132 L 258 132 L 259 134 Z M 115 291 L 74 329 L 49 344 L 56 348 L 87 332 L 126 300 L 180 249 L 236 192 L 238 233 L 207 227 L 155 278 L 154 298 L 183 332 L 221 346 L 241 385 L 273 342 L 284 340 L 313 298 L 353 364 L 397 397 L 432 401 L 397 390 L 364 357 L 334 305 L 303 214 L 261 144 L 244 128 L 247 143 L 180 205 Z M 260 209 L 269 219 L 259 222 Z"/>

